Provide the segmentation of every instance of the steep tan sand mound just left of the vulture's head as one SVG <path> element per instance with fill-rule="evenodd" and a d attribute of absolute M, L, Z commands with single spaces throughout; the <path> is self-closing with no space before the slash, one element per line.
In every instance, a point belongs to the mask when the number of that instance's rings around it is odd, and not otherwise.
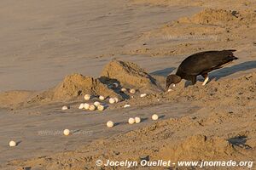
<path fill-rule="evenodd" d="M 102 71 L 101 79 L 106 78 L 116 80 L 128 88 L 158 89 L 155 79 L 132 62 L 112 60 Z"/>

